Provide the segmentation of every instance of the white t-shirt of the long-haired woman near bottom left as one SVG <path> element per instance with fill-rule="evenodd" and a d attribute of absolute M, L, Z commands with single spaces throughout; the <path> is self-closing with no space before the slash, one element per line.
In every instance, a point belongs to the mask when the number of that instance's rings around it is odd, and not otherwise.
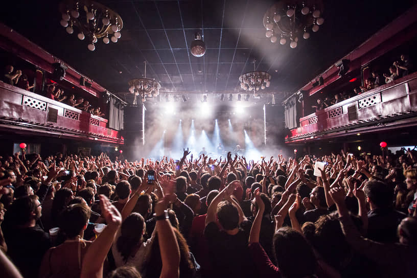
<path fill-rule="evenodd" d="M 117 249 L 117 241 L 119 240 L 120 236 L 121 236 L 121 232 L 120 232 L 120 229 L 119 229 L 119 231 L 116 235 L 116 239 L 113 243 L 113 246 L 111 246 L 111 251 L 113 253 L 114 263 L 115 263 L 116 267 L 134 266 L 134 267 L 136 267 L 136 269 L 138 271 L 141 272 L 143 263 L 146 261 L 148 253 L 149 253 L 149 251 L 151 249 L 151 246 L 152 246 L 153 234 L 152 234 L 152 237 L 150 239 L 148 239 L 147 241 L 145 241 L 141 244 L 141 247 L 136 251 L 134 256 L 129 256 L 126 263 L 123 260 L 122 254 Z"/>

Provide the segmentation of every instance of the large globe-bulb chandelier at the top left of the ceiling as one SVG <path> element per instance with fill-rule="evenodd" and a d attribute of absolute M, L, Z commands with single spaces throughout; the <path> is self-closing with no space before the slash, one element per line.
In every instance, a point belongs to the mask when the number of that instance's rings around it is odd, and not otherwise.
<path fill-rule="evenodd" d="M 108 44 L 110 40 L 117 42 L 122 36 L 122 18 L 100 3 L 89 0 L 64 0 L 59 5 L 59 11 L 62 13 L 61 26 L 66 28 L 68 34 L 74 33 L 74 27 L 77 27 L 78 38 L 86 38 L 90 51 L 96 49 L 94 44 L 100 38 Z M 110 39 L 109 35 L 112 35 Z"/>

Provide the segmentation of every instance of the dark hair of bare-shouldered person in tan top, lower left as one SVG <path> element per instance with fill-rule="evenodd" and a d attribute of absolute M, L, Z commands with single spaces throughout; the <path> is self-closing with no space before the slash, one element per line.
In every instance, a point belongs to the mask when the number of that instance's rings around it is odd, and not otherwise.
<path fill-rule="evenodd" d="M 90 218 L 90 208 L 85 204 L 72 204 L 60 216 L 59 227 L 67 238 L 78 236 Z"/>

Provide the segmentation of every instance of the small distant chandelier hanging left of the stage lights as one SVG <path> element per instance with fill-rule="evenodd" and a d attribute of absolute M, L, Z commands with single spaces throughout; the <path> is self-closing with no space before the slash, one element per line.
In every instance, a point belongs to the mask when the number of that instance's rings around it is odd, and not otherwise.
<path fill-rule="evenodd" d="M 142 102 L 146 101 L 146 98 L 152 98 L 159 95 L 160 84 L 155 79 L 146 78 L 146 61 L 145 64 L 145 75 L 143 78 L 135 78 L 129 81 L 129 91 L 135 96 L 141 96 Z M 136 98 L 133 100 L 133 105 L 136 103 Z"/>

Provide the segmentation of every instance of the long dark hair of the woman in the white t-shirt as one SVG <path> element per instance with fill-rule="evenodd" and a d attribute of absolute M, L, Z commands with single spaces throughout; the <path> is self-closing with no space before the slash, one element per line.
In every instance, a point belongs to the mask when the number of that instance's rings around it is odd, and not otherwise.
<path fill-rule="evenodd" d="M 120 227 L 120 237 L 116 247 L 126 263 L 136 245 L 142 240 L 145 220 L 141 214 L 131 213 Z"/>

